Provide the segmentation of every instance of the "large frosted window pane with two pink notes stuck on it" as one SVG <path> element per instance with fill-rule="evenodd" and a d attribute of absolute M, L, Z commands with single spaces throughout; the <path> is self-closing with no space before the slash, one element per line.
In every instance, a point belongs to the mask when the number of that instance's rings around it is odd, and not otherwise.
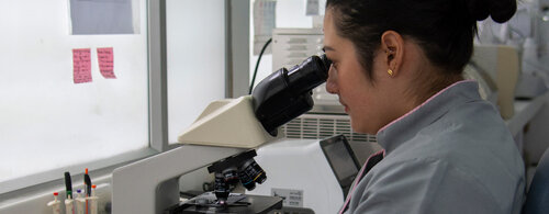
<path fill-rule="evenodd" d="M 134 34 L 71 35 L 69 1 L 2 1 L 0 182 L 148 146 L 146 1 L 115 2 L 130 4 Z M 99 69 L 102 47 L 111 75 Z M 82 83 L 77 48 L 89 48 Z"/>

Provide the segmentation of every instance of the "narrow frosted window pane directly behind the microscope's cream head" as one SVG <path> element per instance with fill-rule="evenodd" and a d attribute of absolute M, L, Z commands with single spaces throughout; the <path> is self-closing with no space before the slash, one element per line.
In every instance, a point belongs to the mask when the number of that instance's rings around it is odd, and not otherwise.
<path fill-rule="evenodd" d="M 176 143 L 214 100 L 225 95 L 225 4 L 167 0 L 168 135 Z"/>

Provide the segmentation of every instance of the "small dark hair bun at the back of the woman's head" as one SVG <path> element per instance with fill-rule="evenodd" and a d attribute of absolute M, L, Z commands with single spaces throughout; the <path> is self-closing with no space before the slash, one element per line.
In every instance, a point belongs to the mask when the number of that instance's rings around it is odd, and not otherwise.
<path fill-rule="evenodd" d="M 516 0 L 467 0 L 469 12 L 477 21 L 489 15 L 497 23 L 513 18 L 516 11 Z"/>

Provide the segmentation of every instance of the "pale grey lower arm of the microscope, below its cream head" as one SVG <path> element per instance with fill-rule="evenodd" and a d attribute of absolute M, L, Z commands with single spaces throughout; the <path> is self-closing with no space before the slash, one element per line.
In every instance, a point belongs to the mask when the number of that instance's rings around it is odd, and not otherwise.
<path fill-rule="evenodd" d="M 245 150 L 184 145 L 117 168 L 112 176 L 112 212 L 163 213 L 179 202 L 177 178 Z"/>

